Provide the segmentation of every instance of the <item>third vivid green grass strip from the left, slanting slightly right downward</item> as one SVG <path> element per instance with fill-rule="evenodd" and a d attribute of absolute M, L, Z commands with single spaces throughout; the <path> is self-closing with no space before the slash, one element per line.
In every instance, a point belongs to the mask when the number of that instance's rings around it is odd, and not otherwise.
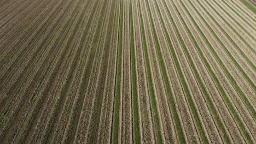
<path fill-rule="evenodd" d="M 155 124 L 155 130 L 156 130 L 156 143 L 163 143 L 162 142 L 162 136 L 160 131 L 160 125 L 159 125 L 159 117 L 158 117 L 158 110 L 156 106 L 156 95 L 154 93 L 154 87 L 153 87 L 153 80 L 152 80 L 152 72 L 150 71 L 150 63 L 149 63 L 149 57 L 148 57 L 148 47 L 146 42 L 146 35 L 143 25 L 143 17 L 141 14 L 141 4 L 139 2 L 139 15 L 141 17 L 141 29 L 142 29 L 142 36 L 143 36 L 143 47 L 145 52 L 145 59 L 146 59 L 146 66 L 147 66 L 147 76 L 148 76 L 148 82 L 149 82 L 149 93 L 150 98 L 152 99 L 152 107 L 153 107 L 153 115 L 154 115 L 154 124 Z"/>

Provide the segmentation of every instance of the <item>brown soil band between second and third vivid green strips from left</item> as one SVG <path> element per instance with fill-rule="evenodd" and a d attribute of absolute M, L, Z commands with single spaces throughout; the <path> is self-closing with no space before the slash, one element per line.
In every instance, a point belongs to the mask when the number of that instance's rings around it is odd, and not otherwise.
<path fill-rule="evenodd" d="M 147 25 L 146 25 L 146 21 L 147 21 L 147 15 L 145 15 L 146 13 L 146 8 L 144 6 L 145 3 L 142 2 L 142 4 L 138 3 L 137 2 L 137 13 L 138 13 L 138 17 L 139 16 L 142 16 L 141 19 L 144 19 L 145 21 L 143 21 L 143 27 L 145 26 L 145 35 L 146 35 L 146 44 L 148 44 L 147 47 L 150 47 L 150 43 L 152 41 L 150 41 L 150 31 L 149 29 L 147 29 Z M 141 7 L 142 6 L 142 7 Z M 141 13 L 142 15 L 139 15 L 139 13 Z M 139 21 L 139 20 L 138 20 Z M 142 31 L 141 31 L 141 21 L 138 22 L 139 23 L 139 41 L 141 42 L 141 44 L 139 45 L 141 50 L 144 51 L 144 46 L 143 46 L 143 39 L 142 39 Z M 149 50 L 148 50 L 149 52 Z M 145 54 L 144 53 L 141 53 L 142 54 L 142 57 L 144 58 Z M 151 63 L 151 59 L 150 59 L 150 53 L 149 53 L 149 63 L 150 63 L 150 72 L 153 73 L 153 64 Z M 148 78 L 148 74 L 147 74 L 147 60 L 144 58 L 143 59 L 144 61 L 144 64 L 143 64 L 143 67 L 141 68 L 141 70 L 143 71 L 143 84 L 142 85 L 139 85 L 139 87 L 143 86 L 143 88 L 140 88 L 139 89 L 139 93 L 142 94 L 143 96 L 140 97 L 139 99 L 139 107 L 141 108 L 141 124 L 142 124 L 142 135 L 143 135 L 143 139 L 142 141 L 143 142 L 152 142 L 152 143 L 155 143 L 156 141 L 158 141 L 158 135 L 157 135 L 157 132 L 158 130 L 155 128 L 156 125 L 154 124 L 154 113 L 152 112 L 152 102 L 150 99 L 152 99 L 152 95 L 150 94 L 150 86 L 151 84 L 149 83 L 149 78 Z M 151 75 L 152 77 L 152 86 L 153 86 L 153 89 L 156 89 L 155 88 L 155 85 L 154 85 L 154 80 L 153 80 L 153 74 Z M 154 91 L 156 92 L 156 91 Z M 154 93 L 155 94 L 155 93 Z M 148 126 L 149 125 L 149 126 Z"/>

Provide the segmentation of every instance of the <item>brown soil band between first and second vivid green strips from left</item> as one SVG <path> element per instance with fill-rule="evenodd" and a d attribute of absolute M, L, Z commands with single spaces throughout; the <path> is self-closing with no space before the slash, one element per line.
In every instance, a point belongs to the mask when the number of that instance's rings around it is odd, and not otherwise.
<path fill-rule="evenodd" d="M 131 143 L 131 51 L 130 51 L 130 15 L 129 1 L 125 1 L 124 5 L 124 51 L 123 51 L 123 100 L 122 100 L 122 115 L 121 115 L 121 132 L 120 143 Z"/>

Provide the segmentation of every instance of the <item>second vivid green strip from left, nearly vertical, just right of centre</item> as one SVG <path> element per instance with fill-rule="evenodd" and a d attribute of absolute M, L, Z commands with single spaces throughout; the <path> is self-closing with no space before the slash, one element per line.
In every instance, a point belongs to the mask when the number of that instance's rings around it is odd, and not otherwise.
<path fill-rule="evenodd" d="M 138 109 L 138 92 L 137 92 L 137 79 L 136 79 L 136 61 L 135 61 L 135 47 L 134 47 L 134 34 L 133 34 L 133 15 L 132 15 L 132 1 L 130 0 L 130 43 L 131 43 L 131 64 L 132 64 L 132 100 L 133 100 L 133 118 L 134 118 L 134 143 L 140 143 L 141 135 L 139 134 L 139 109 Z"/>

